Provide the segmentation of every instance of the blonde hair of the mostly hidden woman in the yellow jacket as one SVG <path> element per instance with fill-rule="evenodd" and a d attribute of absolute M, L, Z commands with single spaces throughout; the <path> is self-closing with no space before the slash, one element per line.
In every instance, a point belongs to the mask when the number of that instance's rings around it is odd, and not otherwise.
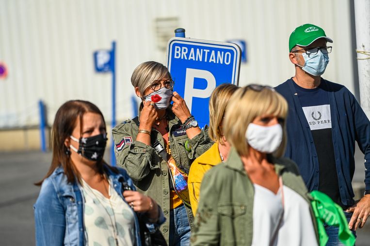
<path fill-rule="evenodd" d="M 231 95 L 239 87 L 232 84 L 221 84 L 216 87 L 209 98 L 209 138 L 213 142 L 223 144 L 222 136 L 224 133 L 221 131 L 220 126 L 223 123 L 225 109 Z"/>

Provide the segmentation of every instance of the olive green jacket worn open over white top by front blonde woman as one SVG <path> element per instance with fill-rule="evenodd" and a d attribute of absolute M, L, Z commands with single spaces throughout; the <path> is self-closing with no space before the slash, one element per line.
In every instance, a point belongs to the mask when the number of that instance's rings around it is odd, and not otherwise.
<path fill-rule="evenodd" d="M 284 185 L 310 203 L 311 197 L 296 164 L 290 159 L 269 157 L 275 163 L 276 174 L 282 176 Z M 254 186 L 238 153 L 232 148 L 225 163 L 210 169 L 203 178 L 192 245 L 250 246 L 253 236 L 253 203 Z M 312 208 L 310 212 L 317 232 Z"/>

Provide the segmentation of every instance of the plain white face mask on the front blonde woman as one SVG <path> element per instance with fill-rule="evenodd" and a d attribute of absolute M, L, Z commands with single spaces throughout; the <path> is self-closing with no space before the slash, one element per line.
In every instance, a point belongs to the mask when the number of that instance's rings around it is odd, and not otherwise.
<path fill-rule="evenodd" d="M 282 139 L 283 129 L 280 124 L 264 127 L 250 123 L 245 131 L 245 140 L 261 153 L 273 153 L 279 148 Z"/>

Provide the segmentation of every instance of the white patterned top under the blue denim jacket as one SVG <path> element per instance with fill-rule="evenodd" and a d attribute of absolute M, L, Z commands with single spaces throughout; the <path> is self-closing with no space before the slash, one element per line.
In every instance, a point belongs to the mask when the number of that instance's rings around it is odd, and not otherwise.
<path fill-rule="evenodd" d="M 111 181 L 109 180 L 110 199 L 91 188 L 83 179 L 82 184 L 85 198 L 83 222 L 87 232 L 86 245 L 115 246 L 115 237 L 119 246 L 135 245 L 134 212 L 112 188 Z M 116 226 L 114 226 L 114 217 Z"/>

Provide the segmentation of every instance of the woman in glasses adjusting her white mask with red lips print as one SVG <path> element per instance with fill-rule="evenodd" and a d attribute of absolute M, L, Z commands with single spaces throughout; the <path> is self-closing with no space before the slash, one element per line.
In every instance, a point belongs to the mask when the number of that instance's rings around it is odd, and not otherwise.
<path fill-rule="evenodd" d="M 112 130 L 117 164 L 128 171 L 139 192 L 161 205 L 167 220 L 157 244 L 190 245 L 193 214 L 187 174 L 193 160 L 211 145 L 208 127 L 198 127 L 161 63 L 140 64 L 131 83 L 142 103 L 139 116 Z"/>

